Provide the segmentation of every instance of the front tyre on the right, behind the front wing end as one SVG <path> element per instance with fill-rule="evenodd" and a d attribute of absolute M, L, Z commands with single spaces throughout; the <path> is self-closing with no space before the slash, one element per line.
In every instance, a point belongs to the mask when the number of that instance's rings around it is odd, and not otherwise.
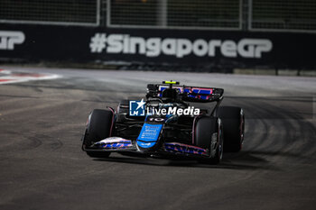
<path fill-rule="evenodd" d="M 218 117 L 201 117 L 195 126 L 195 143 L 198 147 L 209 149 L 211 164 L 218 164 L 223 158 L 222 125 Z"/>

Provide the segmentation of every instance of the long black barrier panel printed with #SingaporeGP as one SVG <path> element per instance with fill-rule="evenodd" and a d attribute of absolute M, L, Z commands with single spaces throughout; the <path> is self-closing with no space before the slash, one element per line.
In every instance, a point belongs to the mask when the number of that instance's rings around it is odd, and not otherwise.
<path fill-rule="evenodd" d="M 0 58 L 315 68 L 316 34 L 0 25 Z"/>

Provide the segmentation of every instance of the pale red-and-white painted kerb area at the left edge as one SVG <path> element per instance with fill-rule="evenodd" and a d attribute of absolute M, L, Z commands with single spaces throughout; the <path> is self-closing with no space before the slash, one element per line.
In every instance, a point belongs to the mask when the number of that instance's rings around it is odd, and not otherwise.
<path fill-rule="evenodd" d="M 49 73 L 12 72 L 0 69 L 0 85 L 55 78 L 61 78 L 61 76 Z"/>

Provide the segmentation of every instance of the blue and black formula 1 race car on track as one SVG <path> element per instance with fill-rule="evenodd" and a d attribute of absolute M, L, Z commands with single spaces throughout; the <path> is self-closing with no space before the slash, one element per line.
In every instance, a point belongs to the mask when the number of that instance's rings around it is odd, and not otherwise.
<path fill-rule="evenodd" d="M 116 111 L 93 110 L 82 150 L 93 158 L 120 152 L 217 164 L 223 151 L 241 150 L 245 130 L 242 108 L 219 106 L 223 93 L 222 88 L 180 86 L 175 81 L 148 84 L 145 100 L 123 100 Z"/>

